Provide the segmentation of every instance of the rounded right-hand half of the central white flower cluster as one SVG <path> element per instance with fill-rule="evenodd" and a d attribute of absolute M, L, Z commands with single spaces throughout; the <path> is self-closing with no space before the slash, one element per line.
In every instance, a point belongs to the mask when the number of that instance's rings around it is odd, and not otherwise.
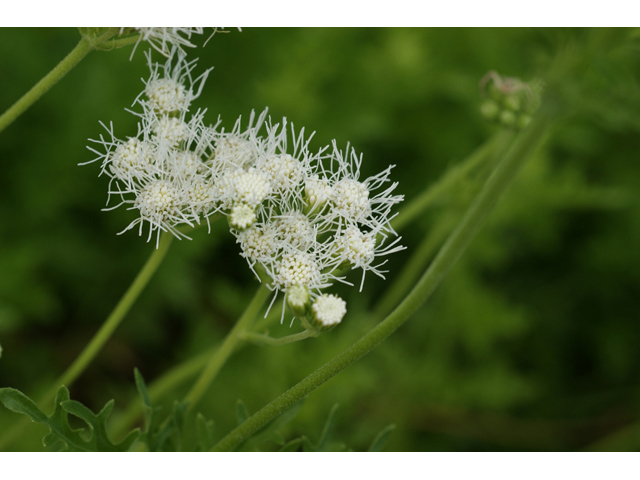
<path fill-rule="evenodd" d="M 312 153 L 310 138 L 304 139 L 304 130 L 296 135 L 292 126 L 289 152 L 288 134 L 286 120 L 267 124 L 264 137 L 249 141 L 253 150 L 247 146 L 243 166 L 227 173 L 228 184 L 250 178 L 258 197 L 247 203 L 243 190 L 227 192 L 225 208 L 231 211 L 241 255 L 258 278 L 268 277 L 270 288 L 285 292 L 290 306 L 290 290 L 302 288 L 318 298 L 335 281 L 348 283 L 344 275 L 351 269 L 362 270 L 360 289 L 367 271 L 384 278 L 380 267 L 386 261 L 376 258 L 404 248 L 399 238 L 390 239 L 396 235 L 389 224 L 391 209 L 403 199 L 392 194 L 397 186 L 389 180 L 392 166 L 361 180 L 362 156 L 349 146 L 341 151 L 333 142 Z M 234 218 L 239 208 L 247 212 L 246 221 Z"/>

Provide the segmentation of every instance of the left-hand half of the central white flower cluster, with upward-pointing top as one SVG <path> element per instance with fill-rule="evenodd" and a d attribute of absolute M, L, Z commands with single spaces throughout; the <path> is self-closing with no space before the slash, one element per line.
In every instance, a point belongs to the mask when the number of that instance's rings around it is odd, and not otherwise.
<path fill-rule="evenodd" d="M 206 110 L 187 115 L 210 70 L 193 79 L 195 62 L 176 51 L 163 66 L 152 63 L 150 55 L 148 60 L 151 76 L 134 102 L 142 107 L 134 112 L 140 117 L 138 134 L 120 140 L 113 124 L 103 124 L 110 139 L 101 135 L 91 141 L 106 152 L 89 149 L 98 154 L 92 162 L 100 160 L 102 173 L 111 178 L 107 203 L 116 197 L 120 202 L 111 208 L 128 205 L 140 213 L 124 231 L 138 226 L 142 235 L 148 223 L 149 239 L 155 232 L 157 245 L 161 231 L 183 236 L 179 226 L 193 227 L 215 211 L 206 161 L 216 129 L 204 124 Z"/>

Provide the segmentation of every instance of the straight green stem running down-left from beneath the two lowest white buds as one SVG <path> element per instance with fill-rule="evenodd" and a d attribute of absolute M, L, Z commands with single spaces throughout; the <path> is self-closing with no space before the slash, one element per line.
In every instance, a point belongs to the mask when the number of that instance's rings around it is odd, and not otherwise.
<path fill-rule="evenodd" d="M 251 303 L 249 303 L 238 322 L 231 329 L 227 337 L 224 339 L 224 342 L 222 342 L 222 346 L 211 356 L 207 366 L 200 374 L 200 377 L 191 390 L 189 390 L 189 393 L 187 393 L 185 401 L 189 402 L 190 410 L 198 404 L 211 385 L 211 382 L 216 378 L 216 375 L 233 352 L 236 344 L 240 341 L 240 334 L 249 329 L 258 315 L 258 312 L 267 300 L 269 293 L 270 290 L 263 281 L 251 300 Z"/>

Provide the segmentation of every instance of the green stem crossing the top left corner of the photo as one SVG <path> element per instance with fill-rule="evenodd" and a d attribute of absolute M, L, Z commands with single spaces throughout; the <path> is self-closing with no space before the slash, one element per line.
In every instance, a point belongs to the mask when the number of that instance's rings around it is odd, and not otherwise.
<path fill-rule="evenodd" d="M 25 93 L 20 100 L 0 116 L 0 132 L 22 115 L 27 108 L 33 105 L 35 101 L 44 95 L 51 87 L 58 83 L 58 81 L 64 77 L 69 70 L 80 63 L 93 48 L 85 38 L 82 38 L 80 42 L 78 42 L 78 45 L 76 45 L 53 70 L 45 75 L 31 90 Z"/>

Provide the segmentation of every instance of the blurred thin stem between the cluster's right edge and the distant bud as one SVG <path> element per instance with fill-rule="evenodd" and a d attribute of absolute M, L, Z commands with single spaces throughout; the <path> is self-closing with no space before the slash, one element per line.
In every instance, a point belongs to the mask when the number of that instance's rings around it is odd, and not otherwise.
<path fill-rule="evenodd" d="M 425 208 L 433 203 L 440 195 L 451 189 L 460 179 L 464 178 L 478 165 L 488 158 L 500 156 L 511 143 L 514 132 L 503 129 L 487 140 L 465 161 L 449 170 L 437 183 L 431 185 L 420 196 L 413 199 L 402 211 L 391 221 L 391 226 L 395 230 L 402 229 L 414 218 L 420 215 Z"/>

